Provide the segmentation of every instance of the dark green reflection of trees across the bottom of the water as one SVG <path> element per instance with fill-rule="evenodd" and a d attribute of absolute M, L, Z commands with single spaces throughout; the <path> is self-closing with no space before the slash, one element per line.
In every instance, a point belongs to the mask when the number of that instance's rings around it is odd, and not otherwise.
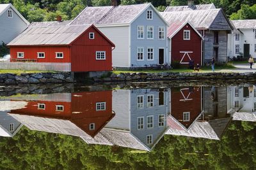
<path fill-rule="evenodd" d="M 150 153 L 22 127 L 0 138 L 0 169 L 255 169 L 255 147 L 252 122 L 232 122 L 221 141 L 166 135 Z"/>

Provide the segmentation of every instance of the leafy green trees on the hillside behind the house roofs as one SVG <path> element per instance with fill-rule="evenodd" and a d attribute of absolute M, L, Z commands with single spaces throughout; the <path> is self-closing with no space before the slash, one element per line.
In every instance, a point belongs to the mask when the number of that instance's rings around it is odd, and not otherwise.
<path fill-rule="evenodd" d="M 178 6 L 188 3 L 187 0 L 118 0 L 118 4 L 146 2 L 152 3 L 159 11 L 163 11 L 167 5 Z M 0 0 L 0 3 L 12 3 L 29 22 L 33 22 L 56 20 L 57 15 L 61 15 L 63 20 L 70 20 L 76 17 L 86 6 L 107 6 L 111 5 L 111 0 Z M 256 6 L 253 6 L 255 0 L 195 0 L 195 4 L 206 3 L 214 3 L 217 8 L 223 8 L 227 15 L 232 14 L 234 19 L 255 18 Z M 252 7 L 248 10 L 250 6 Z M 249 11 L 253 11 L 253 14 L 251 15 Z"/>

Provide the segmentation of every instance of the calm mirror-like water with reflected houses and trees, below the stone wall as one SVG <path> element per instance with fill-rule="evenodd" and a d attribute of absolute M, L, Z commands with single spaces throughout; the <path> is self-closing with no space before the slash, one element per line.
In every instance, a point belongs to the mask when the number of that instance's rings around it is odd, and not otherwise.
<path fill-rule="evenodd" d="M 85 89 L 2 96 L 0 169 L 256 169 L 256 87 Z"/>

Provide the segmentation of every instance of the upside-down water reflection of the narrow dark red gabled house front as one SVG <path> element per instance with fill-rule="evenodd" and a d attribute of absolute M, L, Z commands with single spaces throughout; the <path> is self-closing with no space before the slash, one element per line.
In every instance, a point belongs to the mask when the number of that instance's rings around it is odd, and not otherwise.
<path fill-rule="evenodd" d="M 187 129 L 201 113 L 201 87 L 172 88 L 171 115 Z"/>

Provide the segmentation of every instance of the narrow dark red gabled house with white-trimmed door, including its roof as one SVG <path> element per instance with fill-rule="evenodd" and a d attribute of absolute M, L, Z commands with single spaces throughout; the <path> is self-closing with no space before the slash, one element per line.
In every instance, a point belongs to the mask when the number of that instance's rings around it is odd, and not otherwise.
<path fill-rule="evenodd" d="M 170 38 L 170 60 L 189 64 L 193 60 L 195 65 L 202 65 L 201 34 L 187 22 L 174 22 L 168 27 L 168 38 Z"/>

